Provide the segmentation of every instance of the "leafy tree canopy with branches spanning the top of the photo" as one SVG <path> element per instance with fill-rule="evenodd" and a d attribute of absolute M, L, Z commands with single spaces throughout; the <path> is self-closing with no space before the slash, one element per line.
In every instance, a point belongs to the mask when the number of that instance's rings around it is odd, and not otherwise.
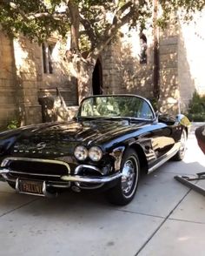
<path fill-rule="evenodd" d="M 0 0 L 0 24 L 10 36 L 19 32 L 43 42 L 54 32 L 71 34 L 71 49 L 93 56 L 115 37 L 123 24 L 146 26 L 153 4 L 162 8 L 158 24 L 164 25 L 170 13 L 185 10 L 185 18 L 202 10 L 205 0 Z"/>

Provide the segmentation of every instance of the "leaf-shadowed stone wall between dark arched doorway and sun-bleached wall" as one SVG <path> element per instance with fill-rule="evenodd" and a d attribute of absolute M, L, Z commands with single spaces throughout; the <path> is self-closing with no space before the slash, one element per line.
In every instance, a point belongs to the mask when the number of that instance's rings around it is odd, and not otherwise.
<path fill-rule="evenodd" d="M 147 37 L 147 64 L 140 63 L 140 37 L 136 30 L 123 30 L 123 37 L 109 45 L 102 54 L 103 88 L 109 93 L 133 93 L 155 98 L 154 37 L 159 51 L 158 106 L 160 111 L 178 111 L 180 97 L 178 83 L 178 27 L 167 30 L 145 30 Z M 155 34 L 156 35 L 155 35 Z M 191 97 L 190 97 L 191 98 Z"/>

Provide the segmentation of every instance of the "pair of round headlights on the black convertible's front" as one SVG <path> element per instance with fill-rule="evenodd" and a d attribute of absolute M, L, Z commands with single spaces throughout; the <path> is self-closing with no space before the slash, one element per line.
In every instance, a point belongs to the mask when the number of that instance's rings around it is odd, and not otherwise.
<path fill-rule="evenodd" d="M 78 145 L 74 151 L 74 155 L 77 160 L 83 161 L 86 158 L 90 158 L 92 161 L 97 162 L 102 159 L 102 150 L 98 146 L 92 146 L 89 150 L 83 146 Z"/>

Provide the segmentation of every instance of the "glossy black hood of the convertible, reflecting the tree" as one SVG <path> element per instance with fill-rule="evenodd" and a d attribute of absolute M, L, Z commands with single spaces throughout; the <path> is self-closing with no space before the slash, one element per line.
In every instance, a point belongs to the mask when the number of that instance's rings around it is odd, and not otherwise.
<path fill-rule="evenodd" d="M 4 141 L 10 141 L 12 152 L 32 154 L 72 154 L 76 145 L 103 145 L 113 139 L 132 133 L 142 126 L 128 121 L 94 120 L 83 122 L 63 122 L 25 126 L 4 135 Z M 0 135 L 1 138 L 1 135 Z M 3 141 L 3 139 L 2 139 Z"/>

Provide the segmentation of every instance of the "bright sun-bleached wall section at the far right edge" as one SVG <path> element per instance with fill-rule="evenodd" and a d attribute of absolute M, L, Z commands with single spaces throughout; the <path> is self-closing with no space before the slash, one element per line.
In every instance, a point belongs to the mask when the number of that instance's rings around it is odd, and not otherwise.
<path fill-rule="evenodd" d="M 189 23 L 179 22 L 178 81 L 182 109 L 188 107 L 193 92 L 205 95 L 205 10 L 196 12 Z"/>

